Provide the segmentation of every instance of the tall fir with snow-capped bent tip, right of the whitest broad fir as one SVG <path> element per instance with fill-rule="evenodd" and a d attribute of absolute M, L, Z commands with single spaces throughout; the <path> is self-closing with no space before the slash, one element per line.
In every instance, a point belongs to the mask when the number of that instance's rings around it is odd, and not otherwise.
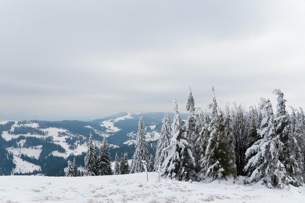
<path fill-rule="evenodd" d="M 284 93 L 279 89 L 274 90 L 273 93 L 277 95 L 277 111 L 274 118 L 275 135 L 279 136 L 280 141 L 283 143 L 279 160 L 285 166 L 289 183 L 300 186 L 303 184 L 301 150 L 297 144 L 289 115 L 286 112 Z"/>

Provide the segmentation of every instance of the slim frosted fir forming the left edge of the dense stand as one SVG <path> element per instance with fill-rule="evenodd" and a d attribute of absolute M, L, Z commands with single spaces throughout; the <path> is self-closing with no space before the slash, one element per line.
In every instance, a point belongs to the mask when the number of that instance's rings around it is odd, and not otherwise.
<path fill-rule="evenodd" d="M 168 151 L 164 151 L 170 145 L 172 137 L 172 128 L 171 128 L 171 115 L 169 112 L 164 113 L 162 119 L 162 128 L 160 133 L 160 138 L 158 140 L 158 145 L 156 148 L 155 154 L 155 164 L 154 170 L 157 171 L 159 166 L 162 166 L 165 158 L 168 156 Z"/>

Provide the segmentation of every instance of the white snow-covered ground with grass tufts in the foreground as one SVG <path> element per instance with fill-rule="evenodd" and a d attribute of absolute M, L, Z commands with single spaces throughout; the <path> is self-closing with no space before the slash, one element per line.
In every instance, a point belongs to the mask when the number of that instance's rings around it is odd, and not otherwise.
<path fill-rule="evenodd" d="M 156 182 L 157 173 L 97 176 L 0 176 L 0 203 L 305 203 L 305 187 Z"/>

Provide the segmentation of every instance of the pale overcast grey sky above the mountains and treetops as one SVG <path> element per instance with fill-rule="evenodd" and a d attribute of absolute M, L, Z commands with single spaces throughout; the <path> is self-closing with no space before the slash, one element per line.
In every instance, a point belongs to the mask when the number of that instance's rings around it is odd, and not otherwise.
<path fill-rule="evenodd" d="M 305 0 L 0 0 L 0 120 L 305 107 Z M 208 110 L 207 110 L 208 111 Z"/>

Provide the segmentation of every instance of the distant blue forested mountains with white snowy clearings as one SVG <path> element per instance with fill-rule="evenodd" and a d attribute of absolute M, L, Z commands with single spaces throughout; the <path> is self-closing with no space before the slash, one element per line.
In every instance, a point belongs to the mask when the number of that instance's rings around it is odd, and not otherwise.
<path fill-rule="evenodd" d="M 90 133 L 97 146 L 104 136 L 107 137 L 113 159 L 115 152 L 127 152 L 131 158 L 140 116 L 146 126 L 149 151 L 154 153 L 163 112 L 122 112 L 90 122 L 0 121 L 0 155 L 6 154 L 7 159 L 11 160 L 6 163 L 6 169 L 0 163 L 0 174 L 41 172 L 63 175 L 63 170 L 59 167 L 66 165 L 66 159 L 76 157 L 77 164 L 83 165 Z M 182 114 L 183 116 L 186 117 Z M 51 163 L 54 159 L 58 166 Z"/>

